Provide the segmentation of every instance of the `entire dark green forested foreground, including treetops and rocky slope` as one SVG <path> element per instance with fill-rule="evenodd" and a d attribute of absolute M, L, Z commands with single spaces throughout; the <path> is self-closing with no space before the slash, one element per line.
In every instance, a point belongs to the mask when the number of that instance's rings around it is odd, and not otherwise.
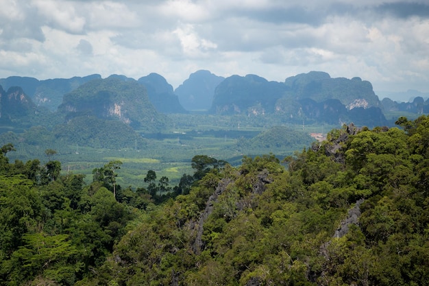
<path fill-rule="evenodd" d="M 328 133 L 280 161 L 195 156 L 168 186 L 0 154 L 0 285 L 428 285 L 429 117 Z M 47 155 L 53 154 L 47 150 Z"/>

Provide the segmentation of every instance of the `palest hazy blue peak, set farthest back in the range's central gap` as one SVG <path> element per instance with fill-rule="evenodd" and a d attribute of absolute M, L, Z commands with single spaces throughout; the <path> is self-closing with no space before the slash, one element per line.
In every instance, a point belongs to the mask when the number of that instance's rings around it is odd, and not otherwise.
<path fill-rule="evenodd" d="M 200 70 L 191 73 L 174 92 L 186 110 L 208 110 L 212 106 L 215 88 L 223 80 L 225 78 L 210 71 Z"/>

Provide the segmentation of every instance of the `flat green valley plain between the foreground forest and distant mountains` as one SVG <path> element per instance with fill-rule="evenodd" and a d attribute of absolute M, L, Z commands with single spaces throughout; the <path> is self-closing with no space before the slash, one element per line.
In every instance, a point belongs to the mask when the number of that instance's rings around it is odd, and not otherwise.
<path fill-rule="evenodd" d="M 14 143 L 16 152 L 10 152 L 10 160 L 38 158 L 42 164 L 48 158 L 45 150 L 56 150 L 53 160 L 62 163 L 62 173 L 85 174 L 86 182 L 92 180 L 93 169 L 103 167 L 110 160 L 120 160 L 123 165 L 117 172 L 117 182 L 123 187 L 146 187 L 144 178 L 147 171 L 156 171 L 158 178 L 167 176 L 171 186 L 178 184 L 183 174 L 193 174 L 191 159 L 196 155 L 207 155 L 218 160 L 226 160 L 231 165 L 240 165 L 243 156 L 258 156 L 270 152 L 282 159 L 297 151 L 293 147 L 268 149 L 256 146 L 243 150 L 240 143 L 245 143 L 268 130 L 273 125 L 287 126 L 291 130 L 300 130 L 309 134 L 326 134 L 332 128 L 341 126 L 320 126 L 303 124 L 273 124 L 268 121 L 255 121 L 246 117 L 227 117 L 212 115 L 170 115 L 173 126 L 156 133 L 140 135 L 147 140 L 147 145 L 140 150 L 128 148 L 121 150 L 94 149 L 79 145 L 62 145 L 49 142 L 43 145 Z M 243 145 L 243 144 L 242 144 Z M 303 146 L 305 147 L 305 146 Z M 307 146 L 308 147 L 308 146 Z M 297 148 L 299 151 L 301 148 Z"/>

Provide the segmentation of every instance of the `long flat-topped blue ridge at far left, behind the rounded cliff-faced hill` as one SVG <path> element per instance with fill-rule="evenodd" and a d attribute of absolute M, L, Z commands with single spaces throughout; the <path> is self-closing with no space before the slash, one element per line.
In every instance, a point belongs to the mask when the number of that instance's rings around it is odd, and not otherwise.
<path fill-rule="evenodd" d="M 83 78 L 69 79 L 56 78 L 52 80 L 37 80 L 36 78 L 11 76 L 0 79 L 0 85 L 8 89 L 11 86 L 20 86 L 24 93 L 32 98 L 36 106 L 43 106 L 49 110 L 57 110 L 62 102 L 62 96 L 80 85 L 101 78 L 101 75 L 88 75 Z"/>

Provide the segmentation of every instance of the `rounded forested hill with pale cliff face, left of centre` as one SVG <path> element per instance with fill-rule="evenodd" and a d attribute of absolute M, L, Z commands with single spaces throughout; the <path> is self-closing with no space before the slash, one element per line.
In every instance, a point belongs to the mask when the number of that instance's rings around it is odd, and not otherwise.
<path fill-rule="evenodd" d="M 135 80 L 124 81 L 116 76 L 79 86 L 64 95 L 58 110 L 68 114 L 68 118 L 92 115 L 119 119 L 143 130 L 155 130 L 164 124 L 164 117 L 149 101 L 145 87 Z"/>

